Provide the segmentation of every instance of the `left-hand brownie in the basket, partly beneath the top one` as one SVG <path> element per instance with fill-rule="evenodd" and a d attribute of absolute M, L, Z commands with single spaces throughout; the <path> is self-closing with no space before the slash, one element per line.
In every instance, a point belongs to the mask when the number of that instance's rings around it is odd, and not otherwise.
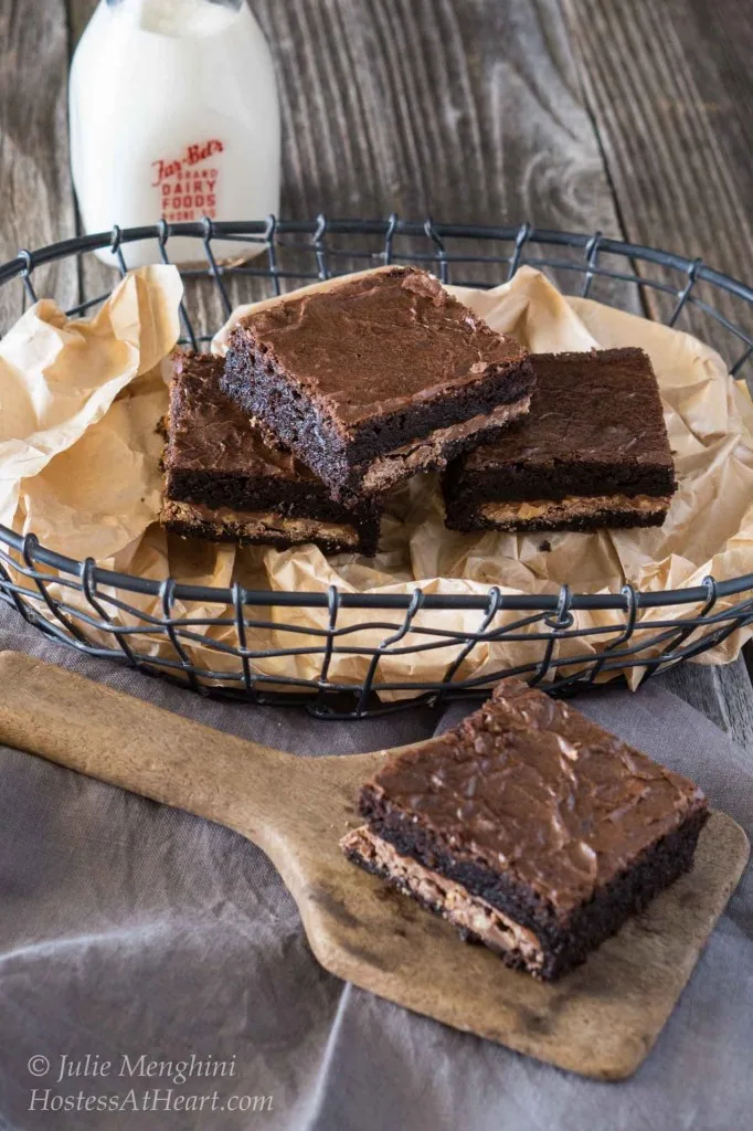
<path fill-rule="evenodd" d="M 280 549 L 313 542 L 326 553 L 376 552 L 379 508 L 346 509 L 291 452 L 265 443 L 222 391 L 222 359 L 176 353 L 173 364 L 163 455 L 168 530 Z"/>

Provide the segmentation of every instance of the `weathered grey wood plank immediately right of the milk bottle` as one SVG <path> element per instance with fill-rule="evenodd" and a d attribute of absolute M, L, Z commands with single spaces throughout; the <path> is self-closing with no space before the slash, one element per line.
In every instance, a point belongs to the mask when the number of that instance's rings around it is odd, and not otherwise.
<path fill-rule="evenodd" d="M 557 2 L 253 8 L 280 77 L 285 214 L 618 234 Z"/>

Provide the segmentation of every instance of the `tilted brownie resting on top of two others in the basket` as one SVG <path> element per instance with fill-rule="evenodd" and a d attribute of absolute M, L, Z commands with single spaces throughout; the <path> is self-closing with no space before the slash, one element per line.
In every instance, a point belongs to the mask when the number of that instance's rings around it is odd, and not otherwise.
<path fill-rule="evenodd" d="M 406 267 L 262 303 L 222 380 L 348 506 L 499 434 L 533 387 L 526 349 Z"/>

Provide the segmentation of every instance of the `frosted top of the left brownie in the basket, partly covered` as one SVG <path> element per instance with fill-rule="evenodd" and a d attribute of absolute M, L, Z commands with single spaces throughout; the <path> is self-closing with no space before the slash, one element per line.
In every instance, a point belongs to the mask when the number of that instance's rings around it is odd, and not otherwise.
<path fill-rule="evenodd" d="M 222 357 L 176 353 L 173 365 L 166 466 L 318 482 L 288 451 L 266 444 L 253 422 L 220 390 Z"/>

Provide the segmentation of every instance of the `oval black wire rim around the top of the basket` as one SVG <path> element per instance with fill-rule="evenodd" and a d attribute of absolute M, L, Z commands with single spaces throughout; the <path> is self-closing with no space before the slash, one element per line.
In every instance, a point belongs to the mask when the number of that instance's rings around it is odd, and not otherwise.
<path fill-rule="evenodd" d="M 499 242 L 512 242 L 514 254 L 510 260 L 514 268 L 518 265 L 520 249 L 525 243 L 554 244 L 560 247 L 582 248 L 585 262 L 580 269 L 588 271 L 595 260 L 595 252 L 621 254 L 629 259 L 644 260 L 661 267 L 670 267 L 685 271 L 689 280 L 702 279 L 727 291 L 744 302 L 753 305 L 753 286 L 736 279 L 724 271 L 708 267 L 701 259 L 690 259 L 676 252 L 665 251 L 643 244 L 630 243 L 604 236 L 600 232 L 581 233 L 555 228 L 537 228 L 528 222 L 514 226 L 493 226 L 478 224 L 443 224 L 431 217 L 425 221 L 401 221 L 397 215 L 383 219 L 337 219 L 319 215 L 313 221 L 283 219 L 268 216 L 261 221 L 213 221 L 205 217 L 200 222 L 183 222 L 168 224 L 161 221 L 153 225 L 121 228 L 119 225 L 110 232 L 98 232 L 90 235 L 75 236 L 47 244 L 34 251 L 21 250 L 14 258 L 0 265 L 0 286 L 15 278 L 27 279 L 35 267 L 64 259 L 68 256 L 110 248 L 118 251 L 122 244 L 140 240 L 156 240 L 164 251 L 173 236 L 194 238 L 201 240 L 205 247 L 214 239 L 244 239 L 269 244 L 278 235 L 311 235 L 314 243 L 320 243 L 326 234 L 381 235 L 387 241 L 396 235 L 429 236 L 438 249 L 438 260 L 444 257 L 443 239 L 485 239 Z M 375 260 L 383 257 L 375 253 Z M 574 267 L 575 265 L 573 265 Z M 222 274 L 222 267 L 210 260 L 208 271 L 202 274 Z M 194 274 L 183 271 L 182 274 Z M 511 274 L 514 274 L 512 270 Z M 578 594 L 571 593 L 563 585 L 554 594 L 501 594 L 497 586 L 490 586 L 486 594 L 426 594 L 419 586 L 405 594 L 358 594 L 340 593 L 331 586 L 328 592 L 270 592 L 245 589 L 237 584 L 232 588 L 210 586 L 192 586 L 176 582 L 172 578 L 156 581 L 140 578 L 132 573 L 120 573 L 103 569 L 93 559 L 76 560 L 43 546 L 34 534 L 19 535 L 9 527 L 0 525 L 0 544 L 19 553 L 28 568 L 40 563 L 69 577 L 83 578 L 85 575 L 95 584 L 137 593 L 152 597 L 164 597 L 178 601 L 197 601 L 207 604 L 232 605 L 241 601 L 244 605 L 257 606 L 292 606 L 292 607 L 329 607 L 335 590 L 340 607 L 349 608 L 408 608 L 421 594 L 421 607 L 436 611 L 485 610 L 493 601 L 501 610 L 531 612 L 551 612 L 562 615 L 566 611 L 577 610 L 620 610 L 661 608 L 672 605 L 694 604 L 703 602 L 713 595 L 718 597 L 733 596 L 745 590 L 753 590 L 753 572 L 745 573 L 726 581 L 716 581 L 712 577 L 703 578 L 700 586 L 682 589 L 661 589 L 643 592 L 632 585 L 625 585 L 620 593 L 612 594 Z M 0 547 L 1 550 L 1 547 Z M 18 563 L 14 563 L 19 568 Z M 21 568 L 23 569 L 23 568 Z"/>

